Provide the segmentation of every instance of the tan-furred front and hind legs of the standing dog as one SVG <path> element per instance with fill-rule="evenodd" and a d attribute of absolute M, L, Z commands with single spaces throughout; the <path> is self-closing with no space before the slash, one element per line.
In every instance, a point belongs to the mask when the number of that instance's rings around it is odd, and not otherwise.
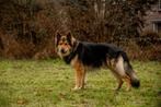
<path fill-rule="evenodd" d="M 70 64 L 76 70 L 76 86 L 73 90 L 83 88 L 87 68 L 79 61 L 78 56 L 76 56 L 72 59 Z M 113 71 L 113 74 L 118 81 L 118 86 L 116 87 L 116 90 L 119 90 L 125 81 L 127 83 L 127 91 L 129 91 L 131 87 L 130 78 L 125 73 L 123 57 L 120 56 L 117 60 L 116 59 L 108 60 L 107 66 Z"/>

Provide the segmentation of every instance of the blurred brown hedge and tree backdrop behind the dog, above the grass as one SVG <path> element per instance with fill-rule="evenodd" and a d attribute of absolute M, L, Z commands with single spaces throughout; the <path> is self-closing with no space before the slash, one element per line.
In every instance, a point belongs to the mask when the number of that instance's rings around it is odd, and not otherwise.
<path fill-rule="evenodd" d="M 57 32 L 161 61 L 161 0 L 0 0 L 0 58 L 57 58 Z"/>

